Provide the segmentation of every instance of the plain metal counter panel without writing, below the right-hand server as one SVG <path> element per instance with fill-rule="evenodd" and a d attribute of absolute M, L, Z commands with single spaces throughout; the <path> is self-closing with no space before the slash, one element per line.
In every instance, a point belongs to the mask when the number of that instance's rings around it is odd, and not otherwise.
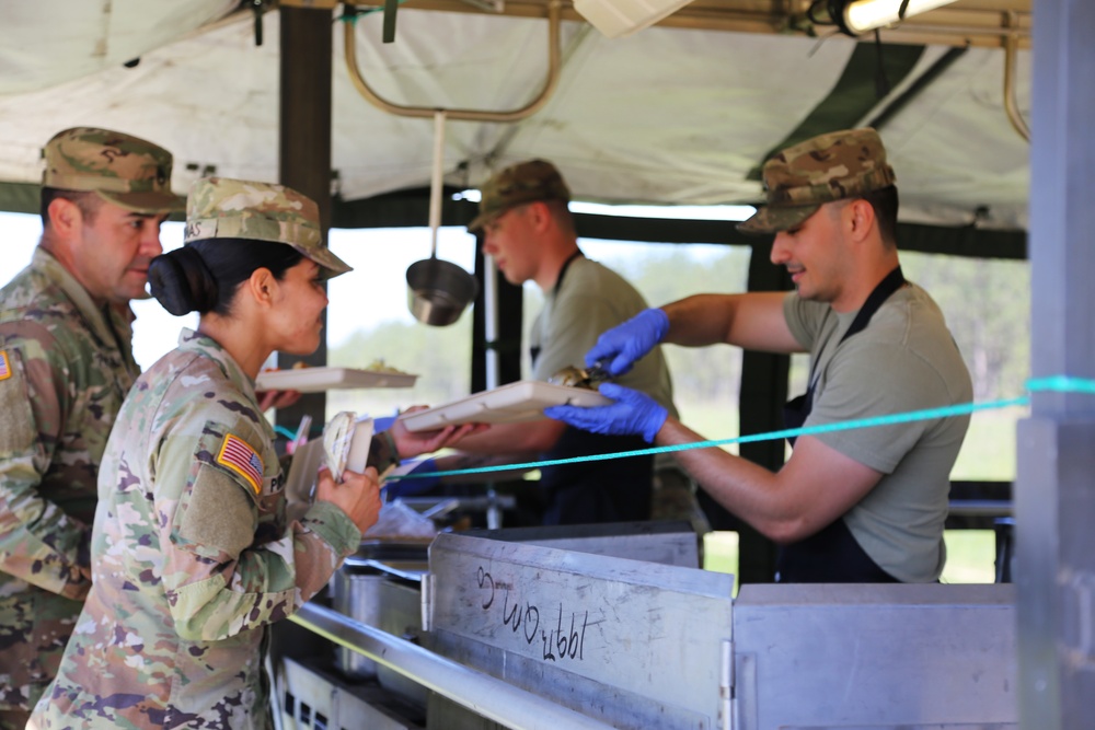
<path fill-rule="evenodd" d="M 740 730 L 1016 728 L 1013 586 L 746 586 Z"/>

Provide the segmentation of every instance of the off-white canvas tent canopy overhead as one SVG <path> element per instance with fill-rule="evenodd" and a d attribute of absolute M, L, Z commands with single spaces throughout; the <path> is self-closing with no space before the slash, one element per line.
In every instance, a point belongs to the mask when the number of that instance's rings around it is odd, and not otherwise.
<path fill-rule="evenodd" d="M 428 118 L 392 115 L 358 93 L 344 54 L 347 23 L 361 77 L 394 104 L 505 111 L 544 86 L 546 0 L 498 2 L 504 12 L 475 2 L 412 0 L 387 44 L 382 12 L 361 8 L 351 21 L 345 7 L 335 11 L 332 167 L 341 199 L 427 186 L 434 136 Z M 1029 0 L 958 0 L 884 33 L 880 45 L 811 25 L 807 4 L 698 0 L 662 24 L 608 38 L 564 3 L 558 83 L 546 104 L 520 121 L 449 120 L 445 182 L 475 187 L 492 170 L 542 157 L 577 199 L 751 202 L 773 150 L 871 125 L 897 170 L 902 221 L 1025 229 L 1028 144 L 1005 113 L 1003 33 L 1011 24 L 1019 39 L 1014 89 L 1025 114 Z M 276 179 L 278 12 L 262 15 L 256 45 L 251 5 L 8 3 L 0 209 L 36 210 L 39 148 L 78 125 L 163 144 L 181 190 L 214 172 Z"/>

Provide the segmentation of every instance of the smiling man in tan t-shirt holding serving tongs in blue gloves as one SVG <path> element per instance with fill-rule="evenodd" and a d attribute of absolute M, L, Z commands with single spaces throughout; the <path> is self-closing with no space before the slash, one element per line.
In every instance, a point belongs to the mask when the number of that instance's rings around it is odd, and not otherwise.
<path fill-rule="evenodd" d="M 772 263 L 796 291 L 699 294 L 603 333 L 586 362 L 627 371 L 659 343 L 726 343 L 810 354 L 807 393 L 787 426 L 814 426 L 967 403 L 969 372 L 931 297 L 901 276 L 897 188 L 873 129 L 791 147 L 763 169 L 768 206 L 740 224 L 774 233 Z M 545 413 L 598 433 L 659 445 L 703 441 L 643 393 Z M 771 472 L 721 449 L 677 452 L 715 500 L 780 543 L 784 582 L 930 582 L 946 560 L 949 475 L 968 417 L 802 436 Z"/>

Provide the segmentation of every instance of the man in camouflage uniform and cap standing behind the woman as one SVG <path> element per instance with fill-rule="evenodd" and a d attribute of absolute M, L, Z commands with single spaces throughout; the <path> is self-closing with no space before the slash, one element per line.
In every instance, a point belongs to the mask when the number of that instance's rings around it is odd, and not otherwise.
<path fill-rule="evenodd" d="M 129 300 L 182 199 L 171 154 L 77 128 L 43 150 L 42 241 L 0 289 L 0 728 L 23 728 L 91 586 L 95 479 L 140 373 Z"/>

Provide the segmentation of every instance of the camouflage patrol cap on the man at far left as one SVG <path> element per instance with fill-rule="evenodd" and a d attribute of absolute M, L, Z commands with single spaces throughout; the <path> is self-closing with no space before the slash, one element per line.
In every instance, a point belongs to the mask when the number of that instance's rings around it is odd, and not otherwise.
<path fill-rule="evenodd" d="M 131 135 L 73 127 L 42 148 L 42 184 L 62 190 L 96 193 L 107 202 L 140 213 L 183 210 L 171 192 L 171 152 Z"/>

